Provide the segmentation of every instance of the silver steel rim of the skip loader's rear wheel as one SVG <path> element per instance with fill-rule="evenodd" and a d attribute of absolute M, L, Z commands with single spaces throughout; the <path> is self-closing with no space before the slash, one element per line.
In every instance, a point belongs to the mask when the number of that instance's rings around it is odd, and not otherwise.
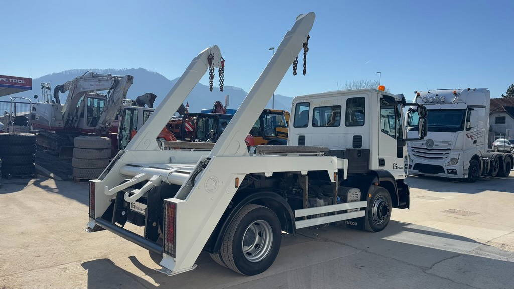
<path fill-rule="evenodd" d="M 268 222 L 258 220 L 251 223 L 243 234 L 241 243 L 246 260 L 255 263 L 262 261 L 271 251 L 273 231 Z"/>

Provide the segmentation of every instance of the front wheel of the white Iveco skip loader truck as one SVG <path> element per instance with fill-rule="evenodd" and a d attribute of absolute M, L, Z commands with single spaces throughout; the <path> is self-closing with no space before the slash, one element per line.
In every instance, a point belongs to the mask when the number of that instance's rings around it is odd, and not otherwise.
<path fill-rule="evenodd" d="M 387 227 L 391 219 L 392 203 L 389 191 L 375 186 L 366 208 L 366 231 L 379 232 Z"/>

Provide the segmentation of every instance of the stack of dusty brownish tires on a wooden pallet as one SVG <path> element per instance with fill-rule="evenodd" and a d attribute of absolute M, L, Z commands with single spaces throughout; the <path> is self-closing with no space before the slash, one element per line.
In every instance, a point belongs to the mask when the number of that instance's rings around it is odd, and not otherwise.
<path fill-rule="evenodd" d="M 80 136 L 74 139 L 73 176 L 77 179 L 97 178 L 111 161 L 111 139 Z"/>

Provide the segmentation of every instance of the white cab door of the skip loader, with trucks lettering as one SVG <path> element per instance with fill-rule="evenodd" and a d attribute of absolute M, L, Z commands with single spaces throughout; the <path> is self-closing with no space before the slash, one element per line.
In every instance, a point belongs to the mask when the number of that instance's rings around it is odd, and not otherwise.
<path fill-rule="evenodd" d="M 401 106 L 389 96 L 380 97 L 378 135 L 378 169 L 395 178 L 405 177 L 405 142 L 401 124 Z"/>

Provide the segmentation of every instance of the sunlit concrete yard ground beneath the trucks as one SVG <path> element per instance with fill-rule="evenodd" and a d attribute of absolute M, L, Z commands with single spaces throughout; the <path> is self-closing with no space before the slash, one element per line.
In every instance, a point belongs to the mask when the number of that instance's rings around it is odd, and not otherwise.
<path fill-rule="evenodd" d="M 195 270 L 167 277 L 144 249 L 83 230 L 87 183 L 2 182 L 2 289 L 514 288 L 514 174 L 474 184 L 409 177 L 411 208 L 394 209 L 386 230 L 302 229 L 283 236 L 277 260 L 253 277 L 207 254 Z"/>

